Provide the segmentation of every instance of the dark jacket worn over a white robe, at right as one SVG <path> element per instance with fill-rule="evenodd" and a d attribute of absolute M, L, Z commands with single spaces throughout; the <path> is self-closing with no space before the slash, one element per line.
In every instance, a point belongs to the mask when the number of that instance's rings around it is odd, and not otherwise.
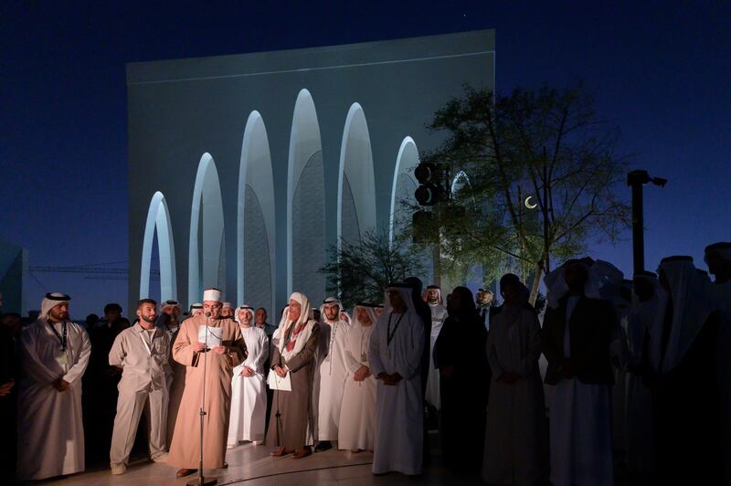
<path fill-rule="evenodd" d="M 548 360 L 545 380 L 547 385 L 556 385 L 564 378 L 561 365 L 564 360 L 567 301 L 568 296 L 563 297 L 558 301 L 557 309 L 546 309 L 544 317 L 541 347 Z M 568 328 L 571 335 L 571 370 L 580 382 L 614 382 L 609 361 L 609 343 L 616 319 L 614 306 L 610 301 L 587 297 L 581 297 L 577 301 Z"/>

